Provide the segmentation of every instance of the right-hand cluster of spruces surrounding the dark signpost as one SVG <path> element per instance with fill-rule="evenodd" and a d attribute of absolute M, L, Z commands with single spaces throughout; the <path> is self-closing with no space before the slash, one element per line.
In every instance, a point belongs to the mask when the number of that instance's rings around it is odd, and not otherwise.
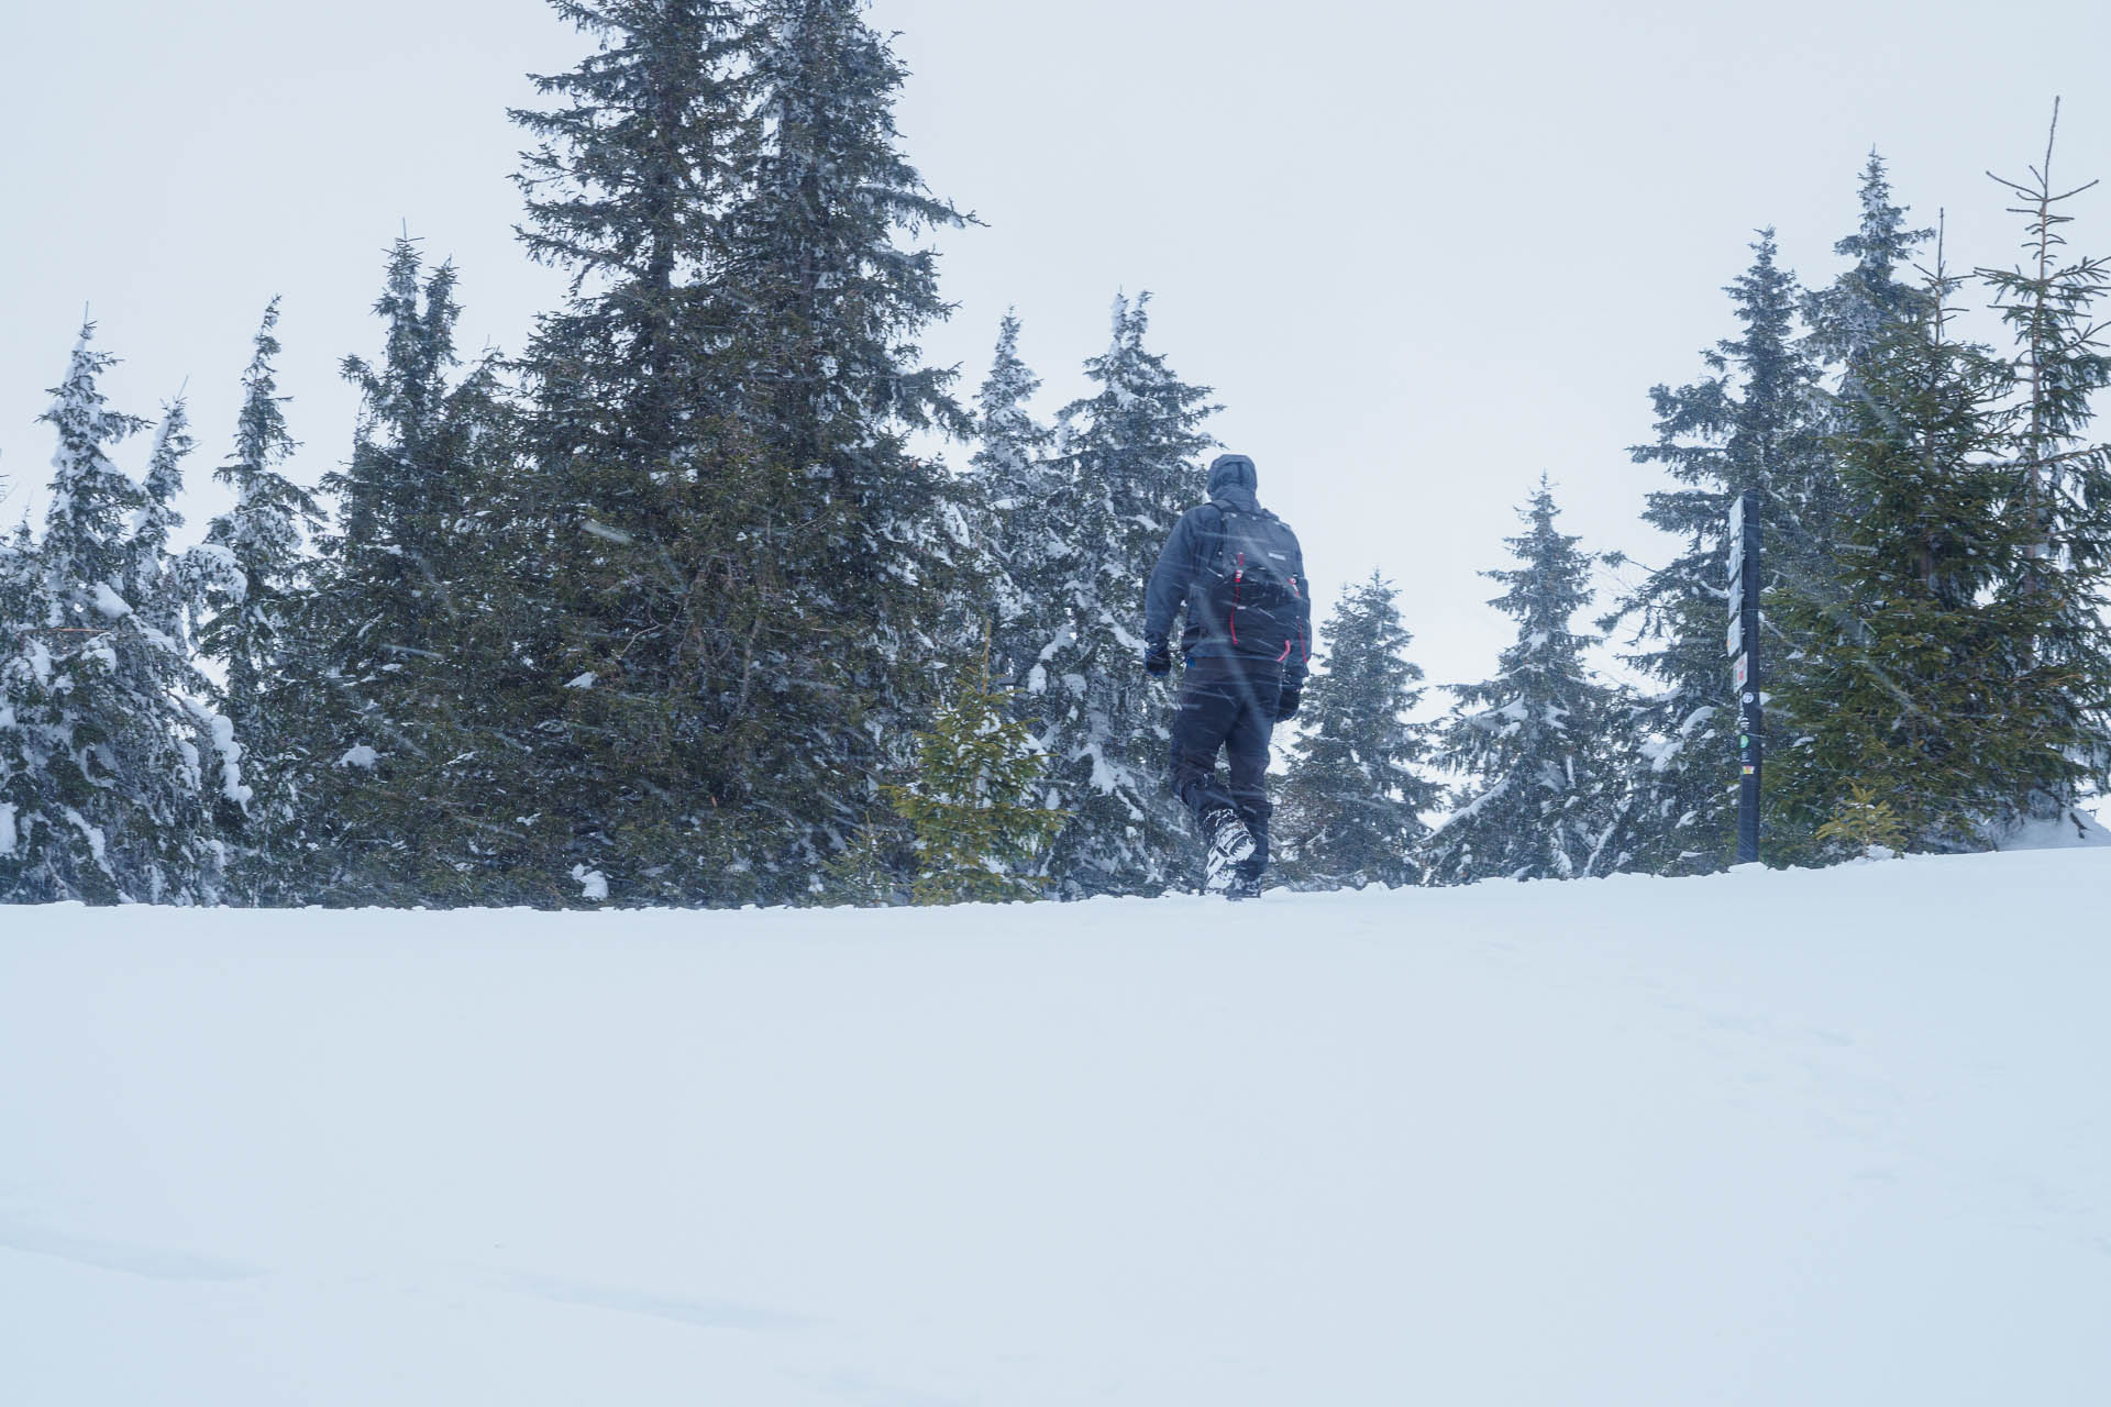
<path fill-rule="evenodd" d="M 1699 380 L 1651 392 L 1657 439 L 1634 449 L 1670 479 L 1642 517 L 1676 555 L 1596 620 L 1592 557 L 1556 532 L 1541 483 L 1509 542 L 1518 565 L 1490 572 L 1518 639 L 1435 736 L 1435 759 L 1471 783 L 1419 846 L 1431 880 L 1729 861 L 1739 494 L 1758 496 L 1767 540 L 1769 861 L 2088 829 L 2077 799 L 2111 766 L 2111 451 L 2090 439 L 2090 399 L 2111 384 L 2096 312 L 2111 262 L 2067 249 L 2062 205 L 2088 186 L 2054 186 L 2050 143 L 2001 188 L 2024 236 L 2010 268 L 1957 272 L 1877 156 L 1832 283 L 1801 287 L 1761 232 L 1727 289 L 1735 335 Z M 1986 308 L 2001 350 L 1959 331 Z M 1594 677 L 1602 643 L 1653 688 Z"/>

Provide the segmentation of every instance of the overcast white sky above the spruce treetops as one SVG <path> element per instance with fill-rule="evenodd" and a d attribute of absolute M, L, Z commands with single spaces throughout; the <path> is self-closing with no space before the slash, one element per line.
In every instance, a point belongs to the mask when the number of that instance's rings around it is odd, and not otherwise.
<path fill-rule="evenodd" d="M 2100 0 L 878 0 L 874 19 L 914 70 L 910 154 L 988 221 L 944 243 L 961 308 L 933 356 L 971 392 L 1018 304 L 1053 409 L 1115 291 L 1150 289 L 1157 346 L 1216 388 L 1216 435 L 1260 464 L 1321 589 L 1393 578 L 1431 681 L 1482 677 L 1507 641 L 1476 572 L 1505 565 L 1541 470 L 1587 546 L 1657 553 L 1636 523 L 1657 475 L 1625 447 L 1649 386 L 1733 331 L 1718 289 L 1756 226 L 1830 278 L 1879 146 L 1919 215 L 1948 207 L 1953 262 L 2003 262 L 2020 226 L 1984 169 L 2037 160 L 2054 95 L 2056 175 L 2111 175 Z M 32 422 L 82 306 L 125 356 L 120 407 L 188 378 L 203 483 L 283 293 L 312 481 L 346 451 L 336 363 L 378 346 L 403 224 L 460 264 L 471 350 L 517 350 L 557 295 L 513 245 L 507 181 L 524 74 L 583 53 L 540 0 L 23 2 L 0 40 L 0 519 L 44 477 Z M 2077 247 L 2111 251 L 2111 194 L 2077 213 Z"/>

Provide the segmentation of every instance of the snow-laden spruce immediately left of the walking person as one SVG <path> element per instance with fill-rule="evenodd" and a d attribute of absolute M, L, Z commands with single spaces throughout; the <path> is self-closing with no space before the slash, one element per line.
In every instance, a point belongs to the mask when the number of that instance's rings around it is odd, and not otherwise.
<path fill-rule="evenodd" d="M 1144 348 L 1148 310 L 1148 293 L 1115 300 L 1112 344 L 1085 363 L 1098 390 L 1064 407 L 1056 485 L 1034 510 L 1064 555 L 1022 707 L 1051 757 L 1051 804 L 1070 812 L 1049 861 L 1066 899 L 1197 880 L 1165 785 L 1178 681 L 1144 675 L 1138 622 L 1159 548 L 1201 498 L 1197 460 L 1214 443 L 1201 424 L 1218 407 Z"/>

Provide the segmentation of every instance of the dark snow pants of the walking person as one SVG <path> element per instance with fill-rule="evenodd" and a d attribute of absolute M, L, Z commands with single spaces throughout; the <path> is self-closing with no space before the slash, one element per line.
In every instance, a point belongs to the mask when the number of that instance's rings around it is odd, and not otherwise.
<path fill-rule="evenodd" d="M 1254 833 L 1254 859 L 1239 871 L 1258 880 L 1269 865 L 1269 732 L 1281 702 L 1283 667 L 1275 660 L 1188 660 L 1174 713 L 1174 795 L 1201 818 L 1231 806 Z M 1218 776 L 1226 753 L 1231 785 Z"/>

